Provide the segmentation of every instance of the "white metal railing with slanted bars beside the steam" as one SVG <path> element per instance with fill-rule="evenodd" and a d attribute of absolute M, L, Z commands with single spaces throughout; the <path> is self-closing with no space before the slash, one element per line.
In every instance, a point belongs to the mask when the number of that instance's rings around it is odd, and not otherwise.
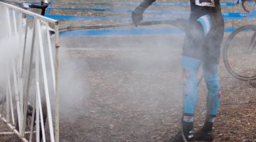
<path fill-rule="evenodd" d="M 0 38 L 14 46 L 1 64 L 1 119 L 22 141 L 58 142 L 58 21 L 2 2 L 0 19 Z M 9 48 L 1 45 L 0 52 Z"/>

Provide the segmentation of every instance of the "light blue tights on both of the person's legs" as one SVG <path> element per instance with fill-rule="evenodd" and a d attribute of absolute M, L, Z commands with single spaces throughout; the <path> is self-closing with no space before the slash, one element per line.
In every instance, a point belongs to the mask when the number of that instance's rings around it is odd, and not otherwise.
<path fill-rule="evenodd" d="M 197 79 L 198 70 L 200 65 L 203 67 L 203 77 L 207 84 L 207 114 L 216 115 L 220 106 L 220 85 L 218 79 L 218 64 L 206 63 L 196 58 L 182 56 L 183 65 L 183 113 L 193 115 L 198 91 Z"/>

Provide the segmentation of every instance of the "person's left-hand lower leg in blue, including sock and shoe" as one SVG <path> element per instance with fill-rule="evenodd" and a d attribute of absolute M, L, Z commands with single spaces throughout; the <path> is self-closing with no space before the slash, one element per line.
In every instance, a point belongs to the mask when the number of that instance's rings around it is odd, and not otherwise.
<path fill-rule="evenodd" d="M 184 136 L 193 138 L 193 114 L 197 102 L 197 80 L 196 76 L 201 65 L 201 60 L 182 56 L 183 66 L 183 116 L 182 130 Z"/>

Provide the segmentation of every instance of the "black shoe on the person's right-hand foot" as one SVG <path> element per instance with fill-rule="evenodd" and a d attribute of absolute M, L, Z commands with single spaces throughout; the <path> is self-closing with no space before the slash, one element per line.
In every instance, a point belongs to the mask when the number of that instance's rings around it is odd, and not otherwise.
<path fill-rule="evenodd" d="M 205 141 L 205 142 L 213 141 L 213 131 L 206 131 L 206 130 L 203 130 L 202 128 L 195 133 L 194 140 Z"/>

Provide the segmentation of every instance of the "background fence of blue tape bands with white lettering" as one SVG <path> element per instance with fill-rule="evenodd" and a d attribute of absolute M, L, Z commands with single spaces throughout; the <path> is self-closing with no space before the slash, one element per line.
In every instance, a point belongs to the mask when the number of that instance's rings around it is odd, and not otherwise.
<path fill-rule="evenodd" d="M 254 2 L 247 2 L 247 6 L 250 6 L 252 11 L 246 13 L 244 11 L 237 11 L 240 5 L 236 6 L 237 1 L 233 2 L 223 2 L 221 6 L 228 8 L 228 12 L 223 12 L 223 17 L 227 24 L 225 32 L 232 32 L 235 30 L 235 21 L 254 19 L 256 18 L 256 11 L 252 9 Z M 37 4 L 37 3 L 33 3 Z M 60 21 L 114 21 L 116 23 L 124 23 L 127 21 L 132 21 L 131 13 L 133 9 L 138 6 L 139 3 L 134 2 L 82 2 L 82 3 L 66 3 L 66 2 L 56 2 L 51 1 L 50 6 L 46 11 L 46 16 L 49 18 L 58 19 Z M 100 8 L 99 8 L 100 6 Z M 188 11 L 189 3 L 156 3 L 152 4 L 149 9 L 144 13 L 145 21 L 164 21 L 164 20 L 174 20 L 176 18 L 187 19 L 190 12 Z M 114 7 L 114 8 L 110 8 Z M 128 8 L 127 8 L 128 7 Z M 179 7 L 181 10 L 173 9 L 174 7 Z M 164 10 L 162 10 L 164 8 Z M 65 11 L 71 14 L 60 14 L 59 11 Z M 98 16 L 80 16 L 84 14 L 76 13 L 99 13 Z M 73 14 L 72 14 L 73 13 Z M 108 14 L 108 15 L 107 15 Z M 87 15 L 87 14 L 85 14 Z M 101 16 L 103 15 L 103 16 Z M 106 16 L 107 15 L 107 16 Z M 109 16 L 110 15 L 110 16 Z M 114 15 L 114 16 L 111 16 Z M 229 26 L 230 25 L 230 26 Z M 129 29 L 103 29 L 103 30 L 86 30 L 86 31 L 68 31 L 65 33 L 60 33 L 60 35 L 136 35 L 136 34 L 170 34 L 170 33 L 181 33 L 175 28 L 129 28 Z"/>

